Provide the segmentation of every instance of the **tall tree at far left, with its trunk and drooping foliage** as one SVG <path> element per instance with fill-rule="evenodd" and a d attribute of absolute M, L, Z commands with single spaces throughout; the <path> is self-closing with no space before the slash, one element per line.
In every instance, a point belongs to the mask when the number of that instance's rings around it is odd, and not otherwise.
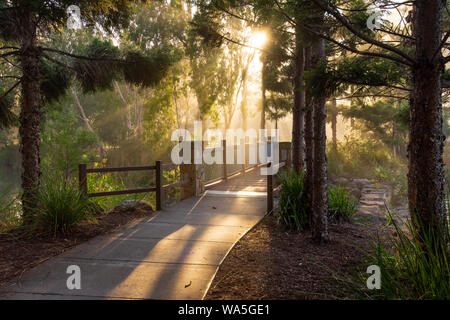
<path fill-rule="evenodd" d="M 79 0 L 36 1 L 2 0 L 0 2 L 0 59 L 16 66 L 19 79 L 0 96 L 3 110 L 10 109 L 8 95 L 20 86 L 20 138 L 22 153 L 23 220 L 31 220 L 38 206 L 34 196 L 40 182 L 41 106 L 64 94 L 72 76 L 85 91 L 106 88 L 113 79 L 124 78 L 138 85 L 150 86 L 165 74 L 169 61 L 165 55 L 143 56 L 138 51 L 120 52 L 105 41 L 93 41 L 83 54 L 46 46 L 53 32 L 64 28 L 69 19 L 69 5 L 81 9 L 85 27 L 100 25 L 104 31 L 123 30 L 132 14 L 133 1 Z M 73 17 L 71 17 L 73 19 Z M 2 111 L 7 113 L 7 111 Z"/>

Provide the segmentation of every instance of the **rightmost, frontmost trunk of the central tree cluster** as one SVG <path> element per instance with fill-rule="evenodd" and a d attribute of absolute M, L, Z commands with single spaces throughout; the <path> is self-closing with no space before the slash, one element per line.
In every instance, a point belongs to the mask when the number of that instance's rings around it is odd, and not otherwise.
<path fill-rule="evenodd" d="M 326 59 L 325 41 L 313 43 L 313 67 Z M 326 156 L 326 96 L 314 97 L 314 190 L 312 213 L 312 238 L 321 243 L 328 240 L 328 194 Z"/>

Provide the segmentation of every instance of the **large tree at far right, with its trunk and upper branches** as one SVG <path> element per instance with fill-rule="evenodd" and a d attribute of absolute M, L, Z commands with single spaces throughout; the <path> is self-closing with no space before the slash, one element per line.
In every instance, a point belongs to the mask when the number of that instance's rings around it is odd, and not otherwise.
<path fill-rule="evenodd" d="M 408 198 L 409 209 L 416 230 L 422 236 L 430 231 L 440 240 L 447 241 L 447 213 L 444 206 L 444 166 L 442 160 L 444 135 L 442 131 L 442 83 L 445 63 L 450 57 L 443 56 L 443 50 L 448 46 L 450 31 L 443 33 L 443 8 L 446 1 L 416 0 L 397 3 L 384 1 L 380 8 L 409 9 L 409 17 L 402 16 L 401 21 L 412 21 L 405 24 L 404 31 L 389 28 L 387 24 L 377 30 L 383 35 L 389 34 L 396 40 L 392 44 L 385 37 L 376 39 L 368 29 L 361 30 L 351 19 L 343 15 L 342 8 L 335 1 L 312 0 L 313 3 L 328 13 L 328 17 L 345 29 L 353 41 L 359 46 L 348 45 L 348 37 L 333 39 L 325 32 L 314 32 L 341 48 L 352 53 L 378 57 L 407 66 L 412 75 L 411 82 L 411 122 L 410 142 L 408 147 L 409 173 Z M 354 1 L 353 3 L 356 3 Z M 369 14 L 364 16 L 368 5 L 361 1 L 359 21 L 367 21 Z M 401 13 L 401 10 L 398 10 Z M 362 14 L 363 13 L 363 14 Z M 365 19 L 361 19 L 361 17 Z M 410 32 L 412 31 L 412 32 Z M 346 41 L 347 40 L 347 43 Z M 361 45 L 370 45 L 362 49 Z"/>

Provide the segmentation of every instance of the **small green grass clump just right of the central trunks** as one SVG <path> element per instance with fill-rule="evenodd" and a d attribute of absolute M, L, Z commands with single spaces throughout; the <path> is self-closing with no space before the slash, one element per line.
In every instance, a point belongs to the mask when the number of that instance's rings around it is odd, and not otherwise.
<path fill-rule="evenodd" d="M 330 221 L 350 221 L 356 211 L 357 201 L 345 187 L 328 187 L 328 219 Z"/>

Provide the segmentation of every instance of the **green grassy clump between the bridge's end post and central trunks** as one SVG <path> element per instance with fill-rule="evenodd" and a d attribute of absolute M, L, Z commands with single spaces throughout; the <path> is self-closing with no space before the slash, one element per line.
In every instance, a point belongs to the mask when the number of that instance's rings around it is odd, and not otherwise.
<path fill-rule="evenodd" d="M 290 172 L 282 179 L 278 220 L 290 229 L 301 232 L 311 227 L 306 210 L 304 172 Z"/>

